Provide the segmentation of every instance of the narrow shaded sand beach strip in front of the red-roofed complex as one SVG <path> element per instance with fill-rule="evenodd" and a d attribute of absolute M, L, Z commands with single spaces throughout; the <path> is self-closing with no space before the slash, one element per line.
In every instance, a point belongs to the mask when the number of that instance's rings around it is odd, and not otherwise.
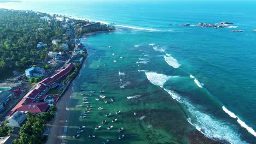
<path fill-rule="evenodd" d="M 57 113 L 54 121 L 48 124 L 50 133 L 48 136 L 48 144 L 51 143 L 66 143 L 63 137 L 65 131 L 65 124 L 68 118 L 67 105 L 69 105 L 70 95 L 72 94 L 72 86 L 69 85 L 65 94 L 62 95 L 61 100 L 57 104 Z"/>

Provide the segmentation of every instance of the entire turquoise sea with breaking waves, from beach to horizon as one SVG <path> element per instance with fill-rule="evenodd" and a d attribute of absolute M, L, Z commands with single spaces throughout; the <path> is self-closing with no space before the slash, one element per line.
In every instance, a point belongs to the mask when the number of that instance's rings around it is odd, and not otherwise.
<path fill-rule="evenodd" d="M 82 40 L 89 58 L 73 85 L 67 137 L 86 123 L 86 133 L 101 135 L 95 142 L 118 143 L 117 130 L 96 133 L 94 127 L 105 113 L 121 110 L 123 115 L 116 116 L 121 121 L 113 128 L 127 129 L 126 143 L 187 143 L 195 128 L 215 140 L 256 142 L 256 2 L 39 1 L 0 7 L 117 25 L 118 31 Z M 235 29 L 245 32 L 179 26 L 221 21 L 233 22 Z M 104 89 L 115 101 L 104 104 L 95 100 L 100 93 L 93 94 L 89 100 L 95 111 L 88 119 L 79 119 L 82 109 L 75 105 L 82 103 L 80 88 L 85 93 Z M 98 112 L 99 106 L 104 110 Z"/>

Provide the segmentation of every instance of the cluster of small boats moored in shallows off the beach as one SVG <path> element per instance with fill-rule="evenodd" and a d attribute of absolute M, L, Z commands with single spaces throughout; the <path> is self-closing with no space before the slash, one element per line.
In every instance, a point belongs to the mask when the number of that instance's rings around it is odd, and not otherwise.
<path fill-rule="evenodd" d="M 81 88 L 81 91 L 84 91 L 84 89 L 83 88 Z M 102 91 L 100 91 L 100 93 L 103 93 L 104 91 L 102 90 Z M 92 94 L 91 93 L 96 93 L 95 91 L 90 91 L 90 93 L 88 94 L 89 96 L 91 96 Z M 84 93 L 83 92 L 81 92 L 80 93 L 82 96 L 84 95 Z M 106 96 L 105 95 L 103 95 L 103 94 L 100 94 L 100 98 L 102 98 L 103 100 L 104 100 L 104 103 L 108 103 L 108 101 L 106 100 Z M 95 100 L 97 100 L 97 101 L 99 101 L 100 99 L 99 98 L 95 98 Z M 114 101 L 114 99 L 113 98 L 110 98 L 110 100 L 113 102 Z M 83 104 L 89 104 L 89 101 L 88 101 L 88 97 L 83 97 Z M 83 107 L 83 105 L 76 105 L 77 107 Z M 86 107 L 86 111 L 84 111 L 83 113 L 81 113 L 81 115 L 80 115 L 80 118 L 86 118 L 86 115 L 88 115 L 88 113 L 90 112 L 89 110 L 91 110 L 92 109 L 92 105 L 88 105 L 87 107 Z M 103 110 L 103 108 L 102 107 L 98 107 L 98 110 Z M 115 112 L 115 114 L 116 115 L 119 115 L 119 113 L 120 113 L 121 111 L 117 111 L 117 112 Z M 105 116 L 106 117 L 109 117 L 109 116 L 111 116 L 112 115 L 112 113 L 107 113 Z M 118 121 L 118 119 L 117 118 L 114 118 L 114 119 L 112 119 L 112 123 L 114 123 L 114 122 L 117 122 Z M 107 122 L 107 120 L 103 120 L 101 123 L 102 124 L 104 124 L 104 123 L 106 123 Z M 83 133 L 83 131 L 84 131 L 84 128 L 85 128 L 85 125 L 82 125 L 82 126 L 80 126 L 79 127 L 79 130 L 77 130 L 77 134 L 76 135 L 74 135 L 73 137 L 74 137 L 74 139 L 75 138 L 78 138 L 79 136 L 80 136 L 80 133 Z M 97 127 L 95 127 L 95 130 L 98 130 L 98 129 L 100 129 L 101 128 L 101 125 L 98 125 Z M 107 127 L 107 130 L 110 130 L 110 129 L 112 129 L 113 128 L 113 125 L 110 125 L 109 127 Z M 121 127 L 121 128 L 119 128 L 118 129 L 118 131 L 119 132 L 121 132 L 121 131 L 123 131 L 124 130 L 124 128 L 123 127 Z M 91 138 L 94 138 L 94 137 L 96 137 L 95 135 L 89 135 L 88 136 L 90 139 Z M 120 135 L 119 137 L 118 137 L 118 139 L 120 140 L 120 139 L 123 139 L 123 137 L 124 137 L 124 135 Z M 109 140 L 105 140 L 103 143 L 108 143 L 109 142 Z"/>

